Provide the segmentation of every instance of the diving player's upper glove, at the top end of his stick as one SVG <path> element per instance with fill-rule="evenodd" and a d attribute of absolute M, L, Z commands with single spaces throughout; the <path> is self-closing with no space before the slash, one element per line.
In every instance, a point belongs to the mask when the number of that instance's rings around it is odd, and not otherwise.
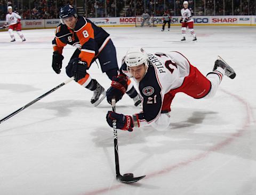
<path fill-rule="evenodd" d="M 128 79 L 124 74 L 119 74 L 117 77 L 113 77 L 111 87 L 106 93 L 109 104 L 111 104 L 112 97 L 115 97 L 116 102 L 122 99 L 128 87 L 127 81 Z"/>

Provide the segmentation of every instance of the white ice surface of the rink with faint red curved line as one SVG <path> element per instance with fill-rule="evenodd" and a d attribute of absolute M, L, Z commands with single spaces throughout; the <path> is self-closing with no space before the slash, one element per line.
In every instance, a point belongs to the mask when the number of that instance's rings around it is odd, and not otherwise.
<path fill-rule="evenodd" d="M 188 32 L 180 43 L 180 27 L 106 30 L 119 63 L 133 46 L 176 50 L 206 74 L 220 55 L 237 77 L 225 77 L 213 99 L 178 94 L 169 130 L 118 131 L 121 174 L 147 175 L 131 185 L 115 180 L 113 133 L 105 119 L 111 107 L 107 101 L 93 107 L 92 92 L 72 81 L 0 124 L 0 194 L 256 194 L 255 27 L 195 27 L 197 43 Z M 68 80 L 65 66 L 74 48 L 63 50 L 57 75 L 51 68 L 54 29 L 22 32 L 26 43 L 17 34 L 10 43 L 8 32 L 0 32 L 0 118 Z M 109 87 L 97 64 L 89 72 Z M 128 96 L 116 110 L 139 112 Z"/>

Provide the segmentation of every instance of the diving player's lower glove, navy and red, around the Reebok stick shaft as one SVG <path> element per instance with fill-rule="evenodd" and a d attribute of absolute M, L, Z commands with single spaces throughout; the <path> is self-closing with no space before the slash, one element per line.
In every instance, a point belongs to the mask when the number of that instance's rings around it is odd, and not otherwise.
<path fill-rule="evenodd" d="M 111 128 L 113 128 L 113 120 L 116 120 L 116 128 L 125 130 L 125 131 L 133 131 L 133 120 L 131 116 L 117 114 L 112 111 L 108 111 L 106 116 L 107 122 Z M 114 124 L 115 125 L 115 124 Z"/>

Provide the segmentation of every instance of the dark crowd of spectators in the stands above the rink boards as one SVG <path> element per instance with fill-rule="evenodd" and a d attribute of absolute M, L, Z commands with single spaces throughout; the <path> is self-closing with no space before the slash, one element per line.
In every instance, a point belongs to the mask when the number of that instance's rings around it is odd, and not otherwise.
<path fill-rule="evenodd" d="M 188 0 L 195 15 L 255 15 L 256 0 Z M 67 3 L 75 5 L 77 1 L 67 0 L 0 0 L 0 20 L 5 20 L 7 6 L 19 13 L 22 19 L 55 19 L 59 9 Z M 180 15 L 183 0 L 84 0 L 82 6 L 87 18 L 135 16 L 148 12 L 161 16 L 163 11 L 170 15 Z M 196 6 L 195 6 L 196 3 Z"/>

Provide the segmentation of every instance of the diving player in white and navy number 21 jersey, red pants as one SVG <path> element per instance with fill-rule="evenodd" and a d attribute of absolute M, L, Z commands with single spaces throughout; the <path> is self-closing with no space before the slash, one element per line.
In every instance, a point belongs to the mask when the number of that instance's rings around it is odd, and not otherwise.
<path fill-rule="evenodd" d="M 107 99 L 116 101 L 122 98 L 127 84 L 125 75 L 134 78 L 142 96 L 142 112 L 132 116 L 109 111 L 106 118 L 110 126 L 116 120 L 116 127 L 132 131 L 133 127 L 152 125 L 157 130 L 168 128 L 171 120 L 172 100 L 178 92 L 183 92 L 196 99 L 211 98 L 226 74 L 234 79 L 234 70 L 222 60 L 214 63 L 213 70 L 206 77 L 191 65 L 179 52 L 147 54 L 142 48 L 128 50 L 120 69 L 119 85 L 111 84 Z M 127 78 L 126 78 L 127 80 Z M 118 87 L 117 87 L 118 86 Z M 122 93 L 118 91 L 122 91 Z"/>

